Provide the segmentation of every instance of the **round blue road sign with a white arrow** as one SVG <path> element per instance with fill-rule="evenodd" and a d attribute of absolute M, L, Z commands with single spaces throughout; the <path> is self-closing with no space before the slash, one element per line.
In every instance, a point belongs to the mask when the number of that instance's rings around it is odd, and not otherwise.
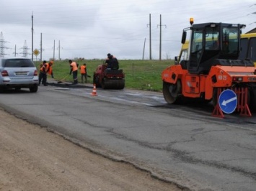
<path fill-rule="evenodd" d="M 219 95 L 219 107 L 224 113 L 233 113 L 237 108 L 237 94 L 233 90 L 224 90 Z"/>

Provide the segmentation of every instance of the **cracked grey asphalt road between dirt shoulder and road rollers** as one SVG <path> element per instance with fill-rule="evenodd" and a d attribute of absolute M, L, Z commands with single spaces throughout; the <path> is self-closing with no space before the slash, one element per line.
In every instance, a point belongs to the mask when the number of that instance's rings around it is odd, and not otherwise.
<path fill-rule="evenodd" d="M 93 152 L 191 190 L 255 190 L 256 113 L 224 119 L 199 103 L 169 106 L 161 93 L 40 86 L 1 93 L 0 106 Z"/>

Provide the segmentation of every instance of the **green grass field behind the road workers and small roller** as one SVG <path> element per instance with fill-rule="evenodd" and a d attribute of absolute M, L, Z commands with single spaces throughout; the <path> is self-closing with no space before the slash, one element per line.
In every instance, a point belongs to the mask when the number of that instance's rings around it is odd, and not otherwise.
<path fill-rule="evenodd" d="M 87 83 L 92 83 L 93 73 L 98 65 L 102 65 L 104 60 L 74 60 L 79 66 L 87 63 L 87 73 L 91 78 L 87 78 Z M 137 90 L 162 91 L 161 74 L 169 65 L 174 64 L 174 60 L 118 60 L 120 69 L 125 73 L 125 88 Z M 39 70 L 40 61 L 35 64 Z M 69 75 L 69 60 L 56 60 L 53 64 L 53 74 L 56 80 L 73 82 L 72 75 Z M 50 78 L 50 76 L 48 76 Z M 79 82 L 81 82 L 79 74 Z"/>

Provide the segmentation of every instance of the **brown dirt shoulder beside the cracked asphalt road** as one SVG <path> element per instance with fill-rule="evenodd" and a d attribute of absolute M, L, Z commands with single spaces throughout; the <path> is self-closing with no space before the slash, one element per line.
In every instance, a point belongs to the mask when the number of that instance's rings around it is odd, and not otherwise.
<path fill-rule="evenodd" d="M 0 190 L 180 190 L 0 108 Z"/>

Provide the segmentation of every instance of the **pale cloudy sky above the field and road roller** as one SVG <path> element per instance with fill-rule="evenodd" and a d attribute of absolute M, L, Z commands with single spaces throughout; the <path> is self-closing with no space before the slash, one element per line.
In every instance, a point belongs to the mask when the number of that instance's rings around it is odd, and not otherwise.
<path fill-rule="evenodd" d="M 15 52 L 23 57 L 27 50 L 34 60 L 105 59 L 107 53 L 118 60 L 148 60 L 150 29 L 151 58 L 159 60 L 161 50 L 162 60 L 174 59 L 190 17 L 195 24 L 246 24 L 243 33 L 256 28 L 255 0 L 0 0 L 0 5 L 4 57 Z M 32 56 L 35 49 L 40 54 Z"/>

